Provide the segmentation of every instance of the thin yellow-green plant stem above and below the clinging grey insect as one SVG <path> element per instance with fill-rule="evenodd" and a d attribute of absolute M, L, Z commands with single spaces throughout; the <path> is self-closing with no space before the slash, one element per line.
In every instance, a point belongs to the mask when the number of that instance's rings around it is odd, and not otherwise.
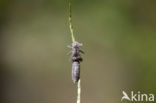
<path fill-rule="evenodd" d="M 71 32 L 72 42 L 75 42 L 74 29 L 72 25 L 71 3 L 69 3 L 69 28 Z M 77 103 L 81 103 L 81 81 L 80 79 L 77 83 Z"/>

